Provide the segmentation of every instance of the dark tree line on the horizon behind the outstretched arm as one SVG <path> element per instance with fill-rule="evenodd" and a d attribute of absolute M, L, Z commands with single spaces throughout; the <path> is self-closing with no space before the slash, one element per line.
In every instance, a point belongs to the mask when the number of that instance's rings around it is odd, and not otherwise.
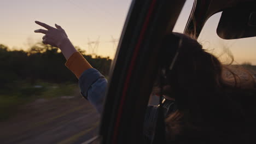
<path fill-rule="evenodd" d="M 92 67 L 108 76 L 111 59 L 86 55 L 85 51 L 76 47 Z M 0 44 L 0 88 L 12 87 L 17 81 L 30 82 L 37 80 L 53 83 L 77 82 L 77 78 L 65 65 L 66 59 L 57 47 L 38 43 L 27 51 L 10 50 Z"/>

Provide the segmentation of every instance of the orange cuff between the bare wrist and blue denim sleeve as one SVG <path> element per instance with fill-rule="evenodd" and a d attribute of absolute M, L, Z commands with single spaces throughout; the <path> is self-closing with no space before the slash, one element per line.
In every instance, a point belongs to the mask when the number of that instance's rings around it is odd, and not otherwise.
<path fill-rule="evenodd" d="M 90 63 L 86 61 L 80 52 L 74 52 L 71 57 L 68 58 L 65 65 L 78 79 L 85 70 L 92 68 Z"/>

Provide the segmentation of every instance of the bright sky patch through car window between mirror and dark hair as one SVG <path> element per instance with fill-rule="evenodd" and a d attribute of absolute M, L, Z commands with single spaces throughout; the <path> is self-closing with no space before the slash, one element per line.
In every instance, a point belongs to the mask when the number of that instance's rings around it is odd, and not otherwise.
<path fill-rule="evenodd" d="M 256 37 L 225 40 L 219 38 L 216 32 L 221 12 L 208 19 L 203 27 L 198 41 L 204 49 L 217 56 L 224 64 L 248 65 L 254 69 L 256 65 Z"/>

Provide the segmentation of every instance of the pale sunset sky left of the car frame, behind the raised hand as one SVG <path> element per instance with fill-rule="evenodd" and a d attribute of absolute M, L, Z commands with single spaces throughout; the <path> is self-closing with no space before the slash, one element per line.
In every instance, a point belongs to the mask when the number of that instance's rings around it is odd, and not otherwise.
<path fill-rule="evenodd" d="M 114 56 L 113 43 L 118 39 L 124 25 L 130 0 L 1 0 L 0 43 L 27 49 L 42 40 L 43 34 L 34 33 L 42 28 L 35 20 L 54 26 L 62 26 L 75 46 L 89 51 L 88 38 L 100 37 L 98 55 Z M 92 45 L 93 46 L 93 45 Z"/>

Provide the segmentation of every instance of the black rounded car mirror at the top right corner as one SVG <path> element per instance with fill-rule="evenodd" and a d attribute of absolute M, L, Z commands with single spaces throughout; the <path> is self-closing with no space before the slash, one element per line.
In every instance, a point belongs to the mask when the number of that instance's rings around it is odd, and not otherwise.
<path fill-rule="evenodd" d="M 223 39 L 256 37 L 256 3 L 247 2 L 224 9 L 217 34 Z"/>

